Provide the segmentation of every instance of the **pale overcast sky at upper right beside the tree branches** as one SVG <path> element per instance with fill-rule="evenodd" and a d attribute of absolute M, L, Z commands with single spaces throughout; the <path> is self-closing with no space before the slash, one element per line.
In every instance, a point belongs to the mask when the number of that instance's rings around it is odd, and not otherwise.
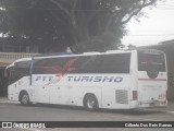
<path fill-rule="evenodd" d="M 174 39 L 174 0 L 158 2 L 157 7 L 142 10 L 146 16 L 127 24 L 128 34 L 122 39 L 125 46 L 157 45 Z"/>

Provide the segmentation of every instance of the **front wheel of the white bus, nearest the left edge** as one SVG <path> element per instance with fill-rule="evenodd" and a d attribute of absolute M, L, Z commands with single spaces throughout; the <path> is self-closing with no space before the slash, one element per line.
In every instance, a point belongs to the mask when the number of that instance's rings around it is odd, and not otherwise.
<path fill-rule="evenodd" d="M 23 92 L 21 95 L 20 95 L 20 102 L 21 102 L 21 105 L 23 106 L 27 106 L 30 104 L 29 102 L 29 96 L 26 92 Z"/>

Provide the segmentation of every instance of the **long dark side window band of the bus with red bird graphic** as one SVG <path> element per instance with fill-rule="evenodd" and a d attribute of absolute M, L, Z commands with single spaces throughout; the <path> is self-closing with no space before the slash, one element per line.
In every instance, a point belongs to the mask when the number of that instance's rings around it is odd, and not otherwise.
<path fill-rule="evenodd" d="M 128 73 L 130 53 L 35 59 L 34 74 Z"/>

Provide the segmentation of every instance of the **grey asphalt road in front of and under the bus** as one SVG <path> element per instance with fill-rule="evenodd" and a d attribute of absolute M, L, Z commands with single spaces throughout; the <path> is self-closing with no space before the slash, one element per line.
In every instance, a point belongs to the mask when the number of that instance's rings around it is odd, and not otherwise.
<path fill-rule="evenodd" d="M 0 104 L 0 121 L 174 121 L 174 114 L 145 110 L 99 110 L 87 111 L 80 107 L 35 105 L 21 106 L 20 104 Z M 124 129 L 123 131 L 142 131 L 144 129 Z M 28 131 L 35 129 L 28 129 Z M 41 129 L 47 131 L 48 129 Z M 55 129 L 50 129 L 55 131 Z M 59 129 L 69 131 L 70 129 Z M 75 130 L 75 129 L 74 129 Z M 77 129 L 78 130 L 78 129 Z M 86 131 L 87 129 L 83 129 Z M 97 129 L 92 129 L 98 131 Z M 116 129 L 119 130 L 119 129 Z M 108 131 L 116 131 L 108 129 Z M 156 131 L 157 128 L 148 131 Z M 158 129 L 157 131 L 163 131 Z M 172 131 L 171 129 L 165 129 Z M 36 131 L 40 131 L 36 130 Z"/>

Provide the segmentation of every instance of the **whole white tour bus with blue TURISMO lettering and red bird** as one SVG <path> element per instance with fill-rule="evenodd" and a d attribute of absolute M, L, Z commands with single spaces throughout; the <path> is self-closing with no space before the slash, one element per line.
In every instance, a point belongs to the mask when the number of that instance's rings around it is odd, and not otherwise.
<path fill-rule="evenodd" d="M 7 67 L 8 97 L 22 105 L 59 104 L 135 109 L 167 105 L 163 51 L 85 52 L 35 56 Z"/>

